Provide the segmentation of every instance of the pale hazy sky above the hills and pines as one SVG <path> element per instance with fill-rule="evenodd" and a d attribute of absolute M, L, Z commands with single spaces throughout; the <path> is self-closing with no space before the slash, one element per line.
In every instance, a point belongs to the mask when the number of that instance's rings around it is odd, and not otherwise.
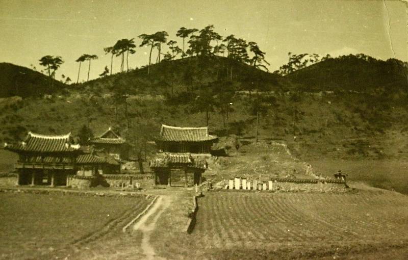
<path fill-rule="evenodd" d="M 95 54 L 99 58 L 90 71 L 95 79 L 110 67 L 103 48 L 119 39 L 135 38 L 139 45 L 138 35 L 166 31 L 181 46 L 177 30 L 209 24 L 222 36 L 257 42 L 270 71 L 287 63 L 289 52 L 408 60 L 406 4 L 400 1 L 0 0 L 0 62 L 41 70 L 41 57 L 61 56 L 57 79 L 64 74 L 76 81 L 75 60 Z M 131 68 L 148 63 L 149 49 L 136 51 L 129 58 Z M 116 58 L 113 73 L 119 66 Z M 87 69 L 82 66 L 80 81 Z"/>

